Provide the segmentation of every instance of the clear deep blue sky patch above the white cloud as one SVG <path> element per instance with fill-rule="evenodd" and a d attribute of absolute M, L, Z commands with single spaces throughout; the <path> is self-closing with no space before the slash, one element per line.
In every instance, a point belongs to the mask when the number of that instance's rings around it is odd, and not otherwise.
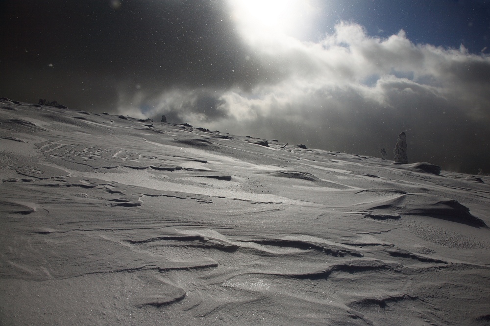
<path fill-rule="evenodd" d="M 490 1 L 352 0 L 321 1 L 315 32 L 333 32 L 334 23 L 363 25 L 371 36 L 388 37 L 400 29 L 414 43 L 490 53 Z M 310 38 L 318 37 L 313 32 Z M 320 32 L 320 33 L 321 33 Z"/>

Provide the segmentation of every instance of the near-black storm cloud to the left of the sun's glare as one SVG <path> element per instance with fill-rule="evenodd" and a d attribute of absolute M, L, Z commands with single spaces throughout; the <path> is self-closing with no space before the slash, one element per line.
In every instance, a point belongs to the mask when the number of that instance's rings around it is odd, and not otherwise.
<path fill-rule="evenodd" d="M 250 88 L 267 70 L 226 9 L 222 1 L 2 1 L 0 90 L 101 109 L 138 89 Z"/>

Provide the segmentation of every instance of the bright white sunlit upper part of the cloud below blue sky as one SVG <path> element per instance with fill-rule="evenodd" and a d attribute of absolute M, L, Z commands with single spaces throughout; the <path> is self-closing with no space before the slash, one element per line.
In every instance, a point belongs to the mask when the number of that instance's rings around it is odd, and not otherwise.
<path fill-rule="evenodd" d="M 338 90 L 345 91 L 344 102 L 359 95 L 385 106 L 395 94 L 417 94 L 459 102 L 462 112 L 473 108 L 480 116 L 488 115 L 489 56 L 468 54 L 464 47 L 416 45 L 403 30 L 387 39 L 370 37 L 357 24 L 339 23 L 335 30 L 318 43 L 283 35 L 275 39 L 277 44 L 257 48 L 272 70 L 287 73 L 280 82 L 257 84 L 249 93 L 223 93 L 231 115 L 237 119 L 253 119 L 257 112 L 267 116 L 272 107 L 308 103 L 318 92 L 324 94 L 322 100 L 316 98 L 324 103 L 323 108 L 333 109 L 343 106 L 332 98 L 332 91 Z M 365 82 L 370 77 L 377 79 L 372 87 Z M 318 110 L 324 109 L 319 106 Z"/>

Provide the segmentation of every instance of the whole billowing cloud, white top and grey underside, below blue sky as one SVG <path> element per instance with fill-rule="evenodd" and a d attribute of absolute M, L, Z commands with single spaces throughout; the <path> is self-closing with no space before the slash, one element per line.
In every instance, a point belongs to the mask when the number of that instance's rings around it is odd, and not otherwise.
<path fill-rule="evenodd" d="M 247 90 L 174 90 L 159 97 L 155 114 L 377 156 L 405 131 L 412 161 L 488 166 L 490 56 L 414 44 L 403 30 L 371 37 L 344 22 L 319 42 L 287 35 L 263 41 L 254 36 L 254 55 L 268 67 L 267 79 Z"/>

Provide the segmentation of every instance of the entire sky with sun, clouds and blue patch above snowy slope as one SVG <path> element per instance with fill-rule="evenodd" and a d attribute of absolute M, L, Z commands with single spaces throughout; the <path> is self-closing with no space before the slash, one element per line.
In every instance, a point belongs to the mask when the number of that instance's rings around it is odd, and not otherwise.
<path fill-rule="evenodd" d="M 0 0 L 0 96 L 490 172 L 489 0 Z"/>

